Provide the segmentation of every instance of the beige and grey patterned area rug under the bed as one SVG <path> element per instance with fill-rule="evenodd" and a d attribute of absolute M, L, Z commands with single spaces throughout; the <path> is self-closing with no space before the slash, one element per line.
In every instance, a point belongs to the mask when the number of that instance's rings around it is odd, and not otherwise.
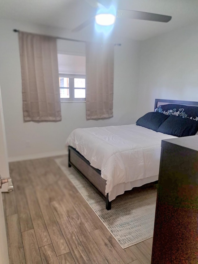
<path fill-rule="evenodd" d="M 107 211 L 105 200 L 72 167 L 68 168 L 66 158 L 56 158 L 55 161 L 123 249 L 153 236 L 155 186 L 125 192 L 112 201 L 111 210 Z"/>

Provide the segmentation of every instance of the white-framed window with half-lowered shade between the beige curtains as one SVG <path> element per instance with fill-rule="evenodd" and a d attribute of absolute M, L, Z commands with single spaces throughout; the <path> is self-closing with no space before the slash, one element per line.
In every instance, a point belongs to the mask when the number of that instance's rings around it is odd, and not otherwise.
<path fill-rule="evenodd" d="M 58 54 L 61 102 L 85 101 L 85 56 Z"/>

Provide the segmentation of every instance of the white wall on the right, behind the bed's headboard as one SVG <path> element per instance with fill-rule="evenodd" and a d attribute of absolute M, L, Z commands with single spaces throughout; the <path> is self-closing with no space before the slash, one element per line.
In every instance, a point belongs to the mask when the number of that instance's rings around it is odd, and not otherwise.
<path fill-rule="evenodd" d="M 198 101 L 198 24 L 142 42 L 137 118 L 155 98 Z"/>

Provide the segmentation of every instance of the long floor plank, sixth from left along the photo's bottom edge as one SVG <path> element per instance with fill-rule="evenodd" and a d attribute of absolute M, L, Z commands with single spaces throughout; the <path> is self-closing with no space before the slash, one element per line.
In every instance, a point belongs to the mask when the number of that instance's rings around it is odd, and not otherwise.
<path fill-rule="evenodd" d="M 78 234 L 78 238 L 80 239 L 80 242 L 86 250 L 91 262 L 96 264 L 108 264 L 105 257 L 103 256 L 100 249 L 93 240 L 92 236 L 90 235 L 87 228 L 80 219 L 79 215 L 71 215 L 68 217 L 68 219 L 75 232 Z"/>

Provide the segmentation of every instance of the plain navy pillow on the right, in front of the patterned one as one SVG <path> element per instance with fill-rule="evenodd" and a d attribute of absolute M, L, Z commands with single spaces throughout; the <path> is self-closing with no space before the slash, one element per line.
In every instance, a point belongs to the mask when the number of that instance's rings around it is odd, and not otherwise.
<path fill-rule="evenodd" d="M 176 115 L 170 115 L 170 117 L 157 129 L 157 132 L 178 137 L 193 136 L 197 131 L 198 121 Z"/>

